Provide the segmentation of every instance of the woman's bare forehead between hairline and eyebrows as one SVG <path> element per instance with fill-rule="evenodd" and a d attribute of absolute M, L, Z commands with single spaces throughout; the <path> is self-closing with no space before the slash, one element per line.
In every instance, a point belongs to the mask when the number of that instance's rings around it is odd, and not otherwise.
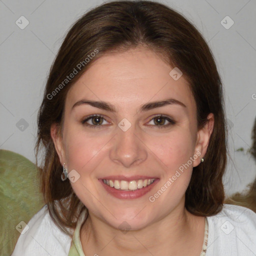
<path fill-rule="evenodd" d="M 169 75 L 172 69 L 147 48 L 108 53 L 96 59 L 73 84 L 66 104 L 71 107 L 76 101 L 89 98 L 131 109 L 148 101 L 175 98 L 193 111 L 195 102 L 189 84 L 183 76 L 174 80 Z"/>

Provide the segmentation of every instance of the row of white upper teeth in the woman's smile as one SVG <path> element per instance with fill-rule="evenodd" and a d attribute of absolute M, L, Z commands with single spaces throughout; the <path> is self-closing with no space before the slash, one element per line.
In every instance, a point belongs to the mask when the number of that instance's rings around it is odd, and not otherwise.
<path fill-rule="evenodd" d="M 122 190 L 136 190 L 138 188 L 145 187 L 153 183 L 155 178 L 148 179 L 138 179 L 138 180 L 112 180 L 112 179 L 103 179 L 103 182 L 111 187 Z"/>

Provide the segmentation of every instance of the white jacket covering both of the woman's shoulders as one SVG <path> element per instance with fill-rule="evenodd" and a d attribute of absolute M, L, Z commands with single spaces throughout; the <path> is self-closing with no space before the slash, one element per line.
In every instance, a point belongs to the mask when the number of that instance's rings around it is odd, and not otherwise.
<path fill-rule="evenodd" d="M 84 213 L 84 212 L 82 212 Z M 85 214 L 75 228 L 79 231 Z M 252 210 L 224 204 L 216 215 L 207 217 L 208 241 L 205 256 L 255 256 L 256 213 Z M 28 230 L 20 234 L 11 256 L 84 256 L 79 236 L 63 233 L 51 220 L 44 205 L 27 223 Z M 68 253 L 72 239 L 80 246 L 78 253 Z M 198 255 L 199 256 L 199 255 Z"/>

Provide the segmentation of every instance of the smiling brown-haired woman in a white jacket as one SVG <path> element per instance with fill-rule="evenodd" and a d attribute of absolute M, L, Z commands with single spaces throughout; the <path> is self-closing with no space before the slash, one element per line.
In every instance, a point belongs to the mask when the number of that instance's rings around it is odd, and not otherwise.
<path fill-rule="evenodd" d="M 212 54 L 182 15 L 151 1 L 88 11 L 50 69 L 46 205 L 12 255 L 253 255 L 256 214 L 223 205 L 223 109 Z"/>

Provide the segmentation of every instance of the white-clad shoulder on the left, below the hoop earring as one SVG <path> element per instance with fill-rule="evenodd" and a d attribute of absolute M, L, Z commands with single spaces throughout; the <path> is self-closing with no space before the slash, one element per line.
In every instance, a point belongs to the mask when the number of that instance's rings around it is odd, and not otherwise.
<path fill-rule="evenodd" d="M 20 235 L 11 256 L 67 255 L 71 238 L 52 221 L 44 205 L 28 223 L 20 222 Z"/>

